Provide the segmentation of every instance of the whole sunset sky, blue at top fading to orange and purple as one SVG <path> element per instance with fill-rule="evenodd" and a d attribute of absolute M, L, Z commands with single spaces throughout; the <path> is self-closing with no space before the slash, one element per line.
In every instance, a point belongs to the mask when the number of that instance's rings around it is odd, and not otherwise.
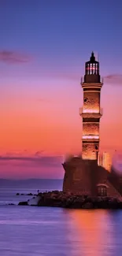
<path fill-rule="evenodd" d="M 104 79 L 100 147 L 122 150 L 122 2 L 0 1 L 0 178 L 62 178 L 81 152 L 80 78 L 94 51 Z M 120 154 L 120 153 L 119 153 Z"/>

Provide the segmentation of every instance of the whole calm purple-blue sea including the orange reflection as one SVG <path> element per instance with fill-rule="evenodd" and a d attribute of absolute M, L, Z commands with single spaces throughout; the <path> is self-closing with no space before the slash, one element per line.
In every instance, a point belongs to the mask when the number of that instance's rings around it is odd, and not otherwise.
<path fill-rule="evenodd" d="M 18 206 L 62 180 L 0 180 L 0 255 L 121 256 L 122 210 Z M 14 205 L 9 205 L 13 203 Z"/>

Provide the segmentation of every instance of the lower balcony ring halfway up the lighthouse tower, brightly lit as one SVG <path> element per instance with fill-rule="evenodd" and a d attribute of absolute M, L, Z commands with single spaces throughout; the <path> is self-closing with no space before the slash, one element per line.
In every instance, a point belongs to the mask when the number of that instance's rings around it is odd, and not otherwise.
<path fill-rule="evenodd" d="M 81 107 L 79 108 L 79 115 L 82 117 L 102 117 L 103 109 L 84 109 Z"/>

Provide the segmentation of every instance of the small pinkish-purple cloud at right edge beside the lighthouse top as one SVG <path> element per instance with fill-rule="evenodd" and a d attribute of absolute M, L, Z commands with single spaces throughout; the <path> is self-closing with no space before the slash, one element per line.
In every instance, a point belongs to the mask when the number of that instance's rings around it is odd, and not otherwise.
<path fill-rule="evenodd" d="M 122 85 L 122 74 L 112 74 L 104 77 L 106 83 L 111 85 Z"/>

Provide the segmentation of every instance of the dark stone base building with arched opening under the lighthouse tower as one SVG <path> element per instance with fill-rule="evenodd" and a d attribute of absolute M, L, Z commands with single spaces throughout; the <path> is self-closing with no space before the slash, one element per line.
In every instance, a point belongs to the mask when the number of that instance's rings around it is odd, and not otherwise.
<path fill-rule="evenodd" d="M 119 183 L 119 177 L 98 165 L 96 160 L 72 157 L 62 165 L 65 169 L 65 193 L 122 199 L 122 184 Z"/>

